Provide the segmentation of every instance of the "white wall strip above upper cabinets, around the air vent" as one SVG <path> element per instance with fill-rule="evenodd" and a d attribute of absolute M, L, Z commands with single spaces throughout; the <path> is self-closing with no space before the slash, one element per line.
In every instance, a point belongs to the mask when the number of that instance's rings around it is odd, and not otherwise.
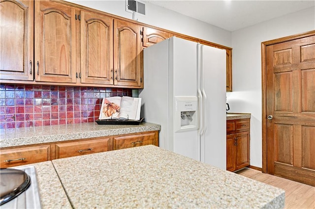
<path fill-rule="evenodd" d="M 126 12 L 125 0 L 67 0 L 110 14 L 132 19 Z M 146 2 L 146 15 L 136 14 L 135 20 L 151 26 L 168 29 L 223 46 L 231 47 L 231 32 L 204 22 L 189 18 L 163 7 Z"/>

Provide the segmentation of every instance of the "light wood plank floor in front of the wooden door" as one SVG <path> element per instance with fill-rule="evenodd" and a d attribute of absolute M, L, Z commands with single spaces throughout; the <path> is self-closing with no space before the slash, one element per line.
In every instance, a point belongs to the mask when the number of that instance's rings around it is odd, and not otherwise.
<path fill-rule="evenodd" d="M 285 209 L 315 209 L 315 187 L 298 183 L 253 169 L 238 171 L 238 174 L 267 183 L 285 191 Z"/>

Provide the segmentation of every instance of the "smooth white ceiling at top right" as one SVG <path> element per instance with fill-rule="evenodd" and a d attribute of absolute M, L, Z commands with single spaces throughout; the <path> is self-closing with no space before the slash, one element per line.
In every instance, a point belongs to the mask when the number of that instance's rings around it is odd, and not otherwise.
<path fill-rule="evenodd" d="M 315 0 L 141 0 L 235 31 L 315 6 Z M 315 7 L 314 7 L 315 13 Z M 315 15 L 314 15 L 315 18 Z"/>

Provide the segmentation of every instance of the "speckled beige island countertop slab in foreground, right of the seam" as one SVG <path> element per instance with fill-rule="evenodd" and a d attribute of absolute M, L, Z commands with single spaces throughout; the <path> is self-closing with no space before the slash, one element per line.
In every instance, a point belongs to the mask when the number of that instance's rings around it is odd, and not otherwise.
<path fill-rule="evenodd" d="M 52 163 L 76 209 L 284 208 L 282 189 L 153 145 Z"/>

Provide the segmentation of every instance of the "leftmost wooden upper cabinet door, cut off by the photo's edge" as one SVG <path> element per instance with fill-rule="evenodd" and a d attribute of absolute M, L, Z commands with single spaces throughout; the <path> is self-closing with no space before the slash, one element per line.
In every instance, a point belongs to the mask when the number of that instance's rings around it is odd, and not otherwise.
<path fill-rule="evenodd" d="M 34 1 L 0 2 L 0 78 L 33 80 Z"/>

